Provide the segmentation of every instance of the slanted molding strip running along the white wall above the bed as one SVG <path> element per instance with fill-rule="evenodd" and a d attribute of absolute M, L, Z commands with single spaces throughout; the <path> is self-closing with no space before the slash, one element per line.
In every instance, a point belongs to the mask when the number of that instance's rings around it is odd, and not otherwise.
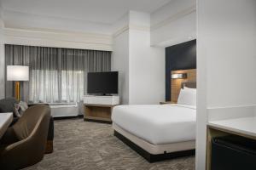
<path fill-rule="evenodd" d="M 186 15 L 192 14 L 196 12 L 196 6 L 193 5 L 189 8 L 185 8 L 182 11 L 178 12 L 177 14 L 173 14 L 172 16 L 168 17 L 166 20 L 162 20 L 159 23 L 154 24 L 153 26 L 150 26 L 150 30 L 154 31 L 162 26 L 166 26 L 173 22 L 174 20 L 181 19 L 185 17 Z"/>

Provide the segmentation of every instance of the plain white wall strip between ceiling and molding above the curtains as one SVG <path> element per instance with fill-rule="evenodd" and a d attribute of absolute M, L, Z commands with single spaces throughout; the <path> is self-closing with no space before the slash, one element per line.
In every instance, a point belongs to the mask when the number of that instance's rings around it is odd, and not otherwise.
<path fill-rule="evenodd" d="M 79 31 L 83 33 L 112 35 L 112 25 L 110 24 L 20 13 L 6 9 L 3 9 L 3 21 L 5 27 L 8 28 L 29 29 L 33 31 Z"/>

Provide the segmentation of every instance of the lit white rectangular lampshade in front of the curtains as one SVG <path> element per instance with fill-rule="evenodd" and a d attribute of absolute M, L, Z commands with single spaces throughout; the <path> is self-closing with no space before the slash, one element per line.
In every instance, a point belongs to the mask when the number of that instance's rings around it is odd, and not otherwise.
<path fill-rule="evenodd" d="M 29 67 L 7 65 L 7 81 L 29 81 Z"/>

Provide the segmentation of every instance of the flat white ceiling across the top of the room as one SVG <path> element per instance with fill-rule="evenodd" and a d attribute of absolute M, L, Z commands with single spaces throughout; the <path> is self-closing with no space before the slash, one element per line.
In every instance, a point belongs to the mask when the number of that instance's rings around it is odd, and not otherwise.
<path fill-rule="evenodd" d="M 129 10 L 153 13 L 172 0 L 0 0 L 4 10 L 113 24 Z"/>

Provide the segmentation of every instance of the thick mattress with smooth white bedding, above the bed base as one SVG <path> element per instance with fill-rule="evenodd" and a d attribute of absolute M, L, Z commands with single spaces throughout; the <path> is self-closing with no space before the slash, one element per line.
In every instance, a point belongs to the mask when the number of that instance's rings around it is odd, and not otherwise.
<path fill-rule="evenodd" d="M 119 105 L 112 121 L 150 144 L 195 140 L 196 109 L 189 105 Z"/>

